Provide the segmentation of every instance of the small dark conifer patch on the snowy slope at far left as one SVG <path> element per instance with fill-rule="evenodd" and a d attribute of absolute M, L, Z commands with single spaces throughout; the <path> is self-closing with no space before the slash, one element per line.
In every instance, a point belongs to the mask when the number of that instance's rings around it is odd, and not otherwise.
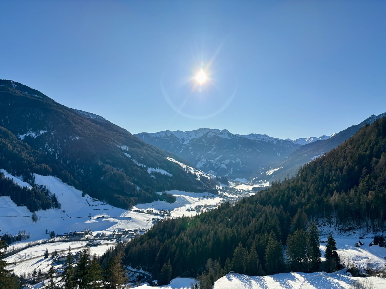
<path fill-rule="evenodd" d="M 2 172 L 0 172 L 0 195 L 9 196 L 18 206 L 25 205 L 30 212 L 60 207 L 56 196 L 46 187 L 37 187 L 33 184 L 30 189 L 20 187 L 10 178 L 6 178 Z"/>

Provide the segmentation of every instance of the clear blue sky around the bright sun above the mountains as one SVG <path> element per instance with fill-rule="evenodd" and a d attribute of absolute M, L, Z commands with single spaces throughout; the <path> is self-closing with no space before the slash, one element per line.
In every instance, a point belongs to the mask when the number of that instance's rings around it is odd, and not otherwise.
<path fill-rule="evenodd" d="M 295 139 L 386 112 L 384 1 L 1 1 L 0 10 L 0 79 L 131 133 Z M 201 66 L 210 79 L 200 89 L 191 78 Z"/>

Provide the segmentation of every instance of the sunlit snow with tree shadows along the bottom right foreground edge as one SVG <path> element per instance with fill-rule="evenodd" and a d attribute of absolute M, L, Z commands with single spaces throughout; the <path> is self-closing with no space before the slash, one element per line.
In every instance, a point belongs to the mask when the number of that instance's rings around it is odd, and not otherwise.
<path fill-rule="evenodd" d="M 334 273 L 279 273 L 269 276 L 248 276 L 230 273 L 218 279 L 213 289 L 332 289 L 349 288 L 354 281 L 367 279 L 375 288 L 386 288 L 386 279 L 379 277 L 349 277 L 345 270 Z"/>

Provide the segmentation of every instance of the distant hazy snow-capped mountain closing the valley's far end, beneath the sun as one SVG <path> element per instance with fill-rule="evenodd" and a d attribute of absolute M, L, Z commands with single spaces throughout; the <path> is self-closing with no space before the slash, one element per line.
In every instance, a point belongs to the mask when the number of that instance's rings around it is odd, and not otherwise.
<path fill-rule="evenodd" d="M 281 160 L 300 144 L 264 135 L 240 136 L 228 130 L 200 128 L 135 134 L 146 143 L 169 151 L 197 168 L 215 175 L 238 178 Z"/>

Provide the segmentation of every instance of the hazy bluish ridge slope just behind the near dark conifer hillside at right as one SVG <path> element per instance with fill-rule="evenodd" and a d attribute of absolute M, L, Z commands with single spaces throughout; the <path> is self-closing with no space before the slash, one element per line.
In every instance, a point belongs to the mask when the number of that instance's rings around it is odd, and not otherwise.
<path fill-rule="evenodd" d="M 255 182 L 258 182 L 259 180 L 283 180 L 288 176 L 294 176 L 300 166 L 303 166 L 323 153 L 327 153 L 333 148 L 336 148 L 340 143 L 344 142 L 356 133 L 362 126 L 372 124 L 376 121 L 376 119 L 384 116 L 386 116 L 386 113 L 382 113 L 377 116 L 372 115 L 357 125 L 350 126 L 349 128 L 342 130 L 340 133 L 332 134 L 332 136 L 328 139 L 320 139 L 300 146 L 281 161 L 273 163 L 250 176 Z"/>

